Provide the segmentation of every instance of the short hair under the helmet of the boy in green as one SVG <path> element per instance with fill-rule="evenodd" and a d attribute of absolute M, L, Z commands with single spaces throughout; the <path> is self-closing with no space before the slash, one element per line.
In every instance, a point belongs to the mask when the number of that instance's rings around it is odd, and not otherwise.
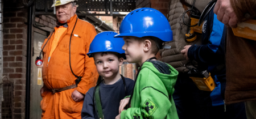
<path fill-rule="evenodd" d="M 162 40 L 160 40 L 158 37 L 153 37 L 153 36 L 136 37 L 135 40 L 139 42 L 150 40 L 152 53 L 154 54 L 158 53 L 159 49 L 162 48 L 162 44 L 163 44 Z"/>

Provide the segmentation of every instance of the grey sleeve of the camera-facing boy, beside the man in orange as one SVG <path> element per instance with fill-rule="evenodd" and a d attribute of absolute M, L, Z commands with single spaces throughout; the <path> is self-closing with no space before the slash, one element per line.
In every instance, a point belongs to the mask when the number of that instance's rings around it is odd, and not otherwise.
<path fill-rule="evenodd" d="M 94 104 L 93 104 L 93 89 L 86 93 L 84 97 L 84 104 L 82 105 L 82 112 L 81 117 L 82 119 L 94 119 L 95 111 L 94 111 Z"/>

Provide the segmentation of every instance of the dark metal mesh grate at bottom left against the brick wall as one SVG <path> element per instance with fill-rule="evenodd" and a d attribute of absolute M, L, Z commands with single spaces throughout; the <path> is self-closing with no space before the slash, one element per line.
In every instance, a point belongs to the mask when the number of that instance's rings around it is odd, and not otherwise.
<path fill-rule="evenodd" d="M 2 119 L 12 119 L 13 116 L 13 83 L 0 83 L 0 100 Z"/>

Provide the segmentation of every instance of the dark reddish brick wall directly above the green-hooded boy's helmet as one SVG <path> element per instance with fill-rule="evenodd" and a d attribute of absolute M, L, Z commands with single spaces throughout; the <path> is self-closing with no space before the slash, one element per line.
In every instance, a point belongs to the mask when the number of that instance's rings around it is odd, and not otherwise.
<path fill-rule="evenodd" d="M 167 16 L 168 5 L 170 0 L 138 0 L 136 1 L 136 8 L 150 7 L 162 12 Z"/>

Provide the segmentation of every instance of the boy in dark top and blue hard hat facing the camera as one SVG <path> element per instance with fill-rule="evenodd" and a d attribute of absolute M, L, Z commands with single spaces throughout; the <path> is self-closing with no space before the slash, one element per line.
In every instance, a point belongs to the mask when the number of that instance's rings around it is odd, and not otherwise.
<path fill-rule="evenodd" d="M 87 54 L 94 58 L 98 74 L 104 80 L 96 86 L 99 87 L 99 91 L 92 87 L 86 93 L 82 106 L 82 119 L 115 118 L 119 114 L 119 102 L 126 96 L 131 95 L 133 91 L 134 80 L 123 78 L 119 74 L 119 66 L 122 65 L 125 58 L 125 51 L 122 50 L 122 45 L 125 42 L 122 38 L 114 38 L 114 35 L 117 35 L 117 33 L 99 33 L 90 44 L 89 53 Z M 100 101 L 97 101 L 97 97 Z"/>

